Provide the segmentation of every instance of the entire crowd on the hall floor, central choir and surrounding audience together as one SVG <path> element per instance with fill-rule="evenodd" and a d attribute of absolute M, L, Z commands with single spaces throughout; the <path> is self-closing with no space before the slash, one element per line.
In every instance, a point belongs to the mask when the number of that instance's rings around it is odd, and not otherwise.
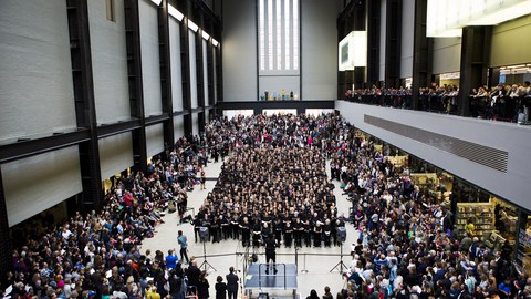
<path fill-rule="evenodd" d="M 184 217 L 187 192 L 209 158 L 229 155 L 194 219 L 196 233 L 209 228 L 207 240 L 237 238 L 258 247 L 267 245 L 264 236 L 273 244 L 272 236 L 285 247 L 341 245 L 337 228 L 350 221 L 360 238 L 339 299 L 531 296 L 531 279 L 511 262 L 512 250 L 491 252 L 479 236 L 456 230 L 448 206 L 419 192 L 407 169 L 332 114 L 216 118 L 204 136 L 180 138 L 145 173 L 118 178 L 102 210 L 28 235 L 13 251 L 2 290 L 12 288 L 11 298 L 156 299 L 184 298 L 192 287 L 199 299 L 209 298 L 194 257 L 142 254 L 140 245 L 164 221 L 168 204 L 177 203 Z M 351 215 L 337 215 L 331 179 L 342 183 Z M 178 238 L 186 252 L 186 238 Z M 223 283 L 218 277 L 219 299 L 228 290 Z M 333 298 L 330 289 L 324 296 Z M 316 291 L 310 297 L 319 298 Z"/>

